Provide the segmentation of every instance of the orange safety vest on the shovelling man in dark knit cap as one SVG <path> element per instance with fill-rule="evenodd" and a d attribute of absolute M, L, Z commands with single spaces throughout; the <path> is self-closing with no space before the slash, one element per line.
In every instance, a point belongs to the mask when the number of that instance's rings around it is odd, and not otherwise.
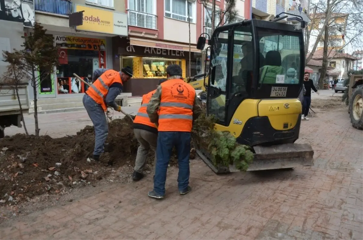
<path fill-rule="evenodd" d="M 109 87 L 114 82 L 122 84 L 120 73 L 109 69 L 97 78 L 97 80 L 86 91 L 87 95 L 89 95 L 95 102 L 101 104 L 104 111 L 107 111 L 105 103 L 106 95 L 109 91 Z"/>

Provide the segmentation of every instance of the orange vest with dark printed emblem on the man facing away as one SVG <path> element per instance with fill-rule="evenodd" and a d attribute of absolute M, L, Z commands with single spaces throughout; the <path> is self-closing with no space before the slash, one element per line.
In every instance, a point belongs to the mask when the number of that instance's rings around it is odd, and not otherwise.
<path fill-rule="evenodd" d="M 191 132 L 195 90 L 181 79 L 161 84 L 159 131 Z"/>

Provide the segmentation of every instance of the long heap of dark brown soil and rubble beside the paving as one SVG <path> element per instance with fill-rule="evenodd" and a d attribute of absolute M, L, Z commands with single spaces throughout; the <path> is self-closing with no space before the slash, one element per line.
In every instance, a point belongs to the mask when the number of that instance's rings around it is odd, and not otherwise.
<path fill-rule="evenodd" d="M 129 118 L 109 123 L 106 143 L 100 162 L 94 162 L 88 159 L 94 148 L 91 126 L 63 138 L 17 134 L 1 139 L 0 203 L 19 203 L 81 183 L 93 184 L 109 174 L 110 168 L 134 163 L 138 142 Z M 153 158 L 150 154 L 148 161 Z"/>

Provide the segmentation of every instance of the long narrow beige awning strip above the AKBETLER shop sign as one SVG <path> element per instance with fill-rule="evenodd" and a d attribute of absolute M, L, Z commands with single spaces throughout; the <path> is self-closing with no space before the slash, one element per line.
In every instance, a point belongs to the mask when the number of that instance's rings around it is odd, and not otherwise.
<path fill-rule="evenodd" d="M 189 51 L 189 44 L 177 44 L 177 43 L 168 43 L 158 40 L 151 39 L 142 39 L 137 37 L 130 37 L 130 45 L 136 46 L 144 46 L 144 47 L 152 47 L 152 48 L 164 48 L 164 49 L 172 49 L 172 50 L 180 50 L 180 51 Z M 191 45 L 191 52 L 201 51 L 196 48 L 195 44 Z"/>

